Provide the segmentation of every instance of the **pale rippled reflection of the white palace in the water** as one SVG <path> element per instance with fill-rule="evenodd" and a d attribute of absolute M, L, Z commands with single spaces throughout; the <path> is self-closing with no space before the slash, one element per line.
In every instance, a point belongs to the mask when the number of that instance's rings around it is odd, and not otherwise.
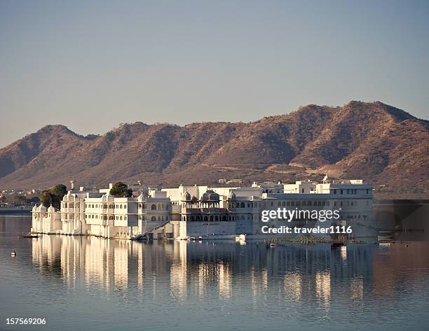
<path fill-rule="evenodd" d="M 32 259 L 43 276 L 57 276 L 71 288 L 123 290 L 133 295 L 204 298 L 213 287 L 219 298 L 234 295 L 313 300 L 329 309 L 332 295 L 362 300 L 372 280 L 372 246 L 264 244 L 240 246 L 189 241 L 105 240 L 43 236 L 32 241 Z M 82 282 L 83 281 L 83 282 Z M 137 292 L 136 292 L 137 291 Z"/>

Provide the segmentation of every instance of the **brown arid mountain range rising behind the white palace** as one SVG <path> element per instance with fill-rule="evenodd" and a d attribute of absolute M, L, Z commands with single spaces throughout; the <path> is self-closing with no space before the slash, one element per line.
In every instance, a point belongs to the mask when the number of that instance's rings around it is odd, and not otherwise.
<path fill-rule="evenodd" d="M 193 185 L 218 178 L 267 181 L 363 178 L 398 197 L 428 197 L 429 122 L 381 102 L 308 105 L 250 123 L 180 127 L 142 122 L 102 136 L 63 125 L 0 149 L 0 189 L 55 183 Z"/>

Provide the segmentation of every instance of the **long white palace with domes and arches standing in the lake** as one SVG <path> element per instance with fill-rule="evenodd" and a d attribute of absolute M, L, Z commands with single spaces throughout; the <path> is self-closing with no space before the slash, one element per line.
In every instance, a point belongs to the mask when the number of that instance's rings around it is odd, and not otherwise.
<path fill-rule="evenodd" d="M 34 206 L 32 232 L 125 239 L 225 239 L 245 234 L 256 239 L 267 236 L 261 232 L 264 225 L 285 225 L 283 220 L 262 222 L 261 212 L 266 210 L 340 209 L 335 225 L 368 225 L 372 219 L 372 185 L 362 180 L 325 177 L 322 183 L 146 187 L 129 198 L 110 195 L 110 188 L 76 190 L 71 182 L 60 211 Z M 301 219 L 294 226 L 308 223 Z"/>

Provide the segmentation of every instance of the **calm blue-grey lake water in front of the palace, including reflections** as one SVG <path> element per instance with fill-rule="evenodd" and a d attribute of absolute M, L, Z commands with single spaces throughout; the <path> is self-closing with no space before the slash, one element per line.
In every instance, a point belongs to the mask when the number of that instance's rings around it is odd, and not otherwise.
<path fill-rule="evenodd" d="M 429 330 L 427 242 L 18 239 L 30 225 L 0 216 L 0 330 Z"/>

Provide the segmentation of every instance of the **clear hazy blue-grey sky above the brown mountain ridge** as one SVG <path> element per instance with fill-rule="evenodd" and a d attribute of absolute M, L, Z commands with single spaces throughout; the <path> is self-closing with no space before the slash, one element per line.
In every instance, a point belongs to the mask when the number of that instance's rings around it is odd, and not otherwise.
<path fill-rule="evenodd" d="M 352 99 L 428 118 L 429 1 L 0 0 L 0 147 Z"/>

